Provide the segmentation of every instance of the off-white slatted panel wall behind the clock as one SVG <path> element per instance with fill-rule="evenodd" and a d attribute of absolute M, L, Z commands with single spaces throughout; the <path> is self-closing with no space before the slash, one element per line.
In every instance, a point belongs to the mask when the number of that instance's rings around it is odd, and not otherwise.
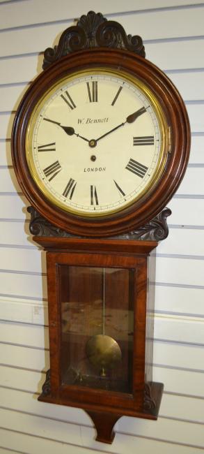
<path fill-rule="evenodd" d="M 0 1 L 0 454 L 194 454 L 204 449 L 204 3 L 192 0 Z M 14 111 L 42 51 L 88 10 L 141 34 L 148 59 L 175 82 L 191 121 L 191 157 L 158 247 L 154 379 L 157 422 L 123 417 L 112 446 L 79 409 L 37 402 L 49 367 L 45 256 L 29 236 L 10 159 Z M 41 52 L 39 56 L 39 52 Z"/>

